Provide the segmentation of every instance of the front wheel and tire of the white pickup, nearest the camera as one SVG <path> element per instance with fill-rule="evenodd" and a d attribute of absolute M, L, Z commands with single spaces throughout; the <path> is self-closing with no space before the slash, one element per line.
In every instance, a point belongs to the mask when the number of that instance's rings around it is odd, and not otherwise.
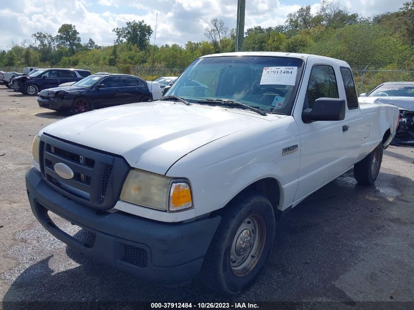
<path fill-rule="evenodd" d="M 201 276 L 211 289 L 234 295 L 251 286 L 265 267 L 274 242 L 275 216 L 270 201 L 252 191 L 236 197 L 221 215 L 221 223 L 203 261 Z M 252 238 L 246 241 L 241 238 L 246 236 L 244 232 L 248 230 L 243 225 L 252 223 L 249 219 L 261 223 L 254 226 L 257 227 L 256 232 L 249 230 L 247 236 Z M 239 246 L 238 253 L 240 249 L 247 253 L 245 262 L 241 260 L 240 264 L 237 261 L 237 244 L 243 244 L 242 248 Z"/>

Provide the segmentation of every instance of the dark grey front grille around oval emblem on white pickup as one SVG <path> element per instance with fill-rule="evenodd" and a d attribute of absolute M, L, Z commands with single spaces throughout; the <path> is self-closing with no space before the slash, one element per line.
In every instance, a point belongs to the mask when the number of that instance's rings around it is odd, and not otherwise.
<path fill-rule="evenodd" d="M 130 167 L 117 155 L 43 134 L 40 143 L 41 172 L 56 191 L 101 210 L 112 208 L 119 198 Z M 54 166 L 63 163 L 73 171 L 73 178 L 60 177 Z"/>

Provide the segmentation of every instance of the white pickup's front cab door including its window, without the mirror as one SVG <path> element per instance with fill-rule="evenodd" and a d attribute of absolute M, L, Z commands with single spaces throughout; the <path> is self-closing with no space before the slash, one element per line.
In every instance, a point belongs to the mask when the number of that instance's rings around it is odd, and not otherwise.
<path fill-rule="evenodd" d="M 295 202 L 351 168 L 356 146 L 347 108 L 343 120 L 305 123 L 302 119 L 302 111 L 312 108 L 317 98 L 345 98 L 338 64 L 334 60 L 320 63 L 320 58 L 309 57 L 303 84 L 294 110 L 301 138 Z"/>

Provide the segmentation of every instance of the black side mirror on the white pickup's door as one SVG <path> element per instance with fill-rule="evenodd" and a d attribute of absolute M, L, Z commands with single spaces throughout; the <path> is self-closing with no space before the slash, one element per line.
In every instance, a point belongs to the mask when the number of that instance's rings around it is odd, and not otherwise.
<path fill-rule="evenodd" d="M 314 107 L 302 112 L 305 123 L 317 120 L 342 120 L 345 118 L 345 99 L 317 98 Z"/>

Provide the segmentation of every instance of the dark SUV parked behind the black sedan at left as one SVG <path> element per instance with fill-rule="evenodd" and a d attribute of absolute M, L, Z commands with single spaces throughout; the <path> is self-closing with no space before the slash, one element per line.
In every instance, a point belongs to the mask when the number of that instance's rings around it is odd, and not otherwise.
<path fill-rule="evenodd" d="M 79 69 L 38 69 L 29 75 L 14 78 L 13 89 L 26 95 L 37 95 L 43 89 L 56 87 L 67 82 L 77 82 L 91 75 L 90 71 Z"/>

